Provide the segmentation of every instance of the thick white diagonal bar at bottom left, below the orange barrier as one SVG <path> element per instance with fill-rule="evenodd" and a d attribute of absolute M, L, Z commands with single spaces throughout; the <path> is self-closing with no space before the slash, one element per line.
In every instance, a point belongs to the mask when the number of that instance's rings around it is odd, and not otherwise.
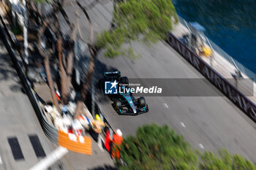
<path fill-rule="evenodd" d="M 62 156 L 66 155 L 69 152 L 65 147 L 57 147 L 53 152 L 39 161 L 36 165 L 34 165 L 30 170 L 45 170 L 48 169 L 53 163 L 58 161 Z"/>

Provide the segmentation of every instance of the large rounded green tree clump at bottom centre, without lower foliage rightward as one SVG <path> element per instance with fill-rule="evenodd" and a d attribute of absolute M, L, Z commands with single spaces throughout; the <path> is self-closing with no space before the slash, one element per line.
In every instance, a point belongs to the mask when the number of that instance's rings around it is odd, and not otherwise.
<path fill-rule="evenodd" d="M 136 136 L 127 136 L 121 145 L 126 166 L 119 169 L 196 169 L 197 155 L 182 136 L 167 125 L 145 125 Z"/>

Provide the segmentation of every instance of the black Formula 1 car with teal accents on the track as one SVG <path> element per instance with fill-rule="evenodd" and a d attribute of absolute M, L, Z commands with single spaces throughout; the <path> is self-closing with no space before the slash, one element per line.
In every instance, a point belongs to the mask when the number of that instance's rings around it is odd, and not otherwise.
<path fill-rule="evenodd" d="M 109 88 L 108 88 L 108 84 Z M 104 90 L 111 101 L 113 101 L 113 108 L 119 115 L 140 115 L 148 112 L 148 104 L 144 97 L 135 98 L 132 93 L 125 92 L 119 93 L 120 88 L 129 88 L 129 81 L 127 77 L 121 77 L 119 71 L 104 72 L 104 78 L 99 80 L 99 87 Z M 108 88 L 108 89 L 107 89 Z M 115 88 L 114 91 L 111 91 Z"/>

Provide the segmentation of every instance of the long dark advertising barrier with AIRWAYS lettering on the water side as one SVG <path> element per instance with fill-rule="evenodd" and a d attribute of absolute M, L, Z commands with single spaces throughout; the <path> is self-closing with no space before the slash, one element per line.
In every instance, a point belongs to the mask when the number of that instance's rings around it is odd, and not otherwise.
<path fill-rule="evenodd" d="M 211 68 L 203 59 L 189 50 L 186 45 L 170 32 L 167 34 L 167 42 L 256 123 L 256 105 L 249 98 L 244 96 L 243 93 Z"/>

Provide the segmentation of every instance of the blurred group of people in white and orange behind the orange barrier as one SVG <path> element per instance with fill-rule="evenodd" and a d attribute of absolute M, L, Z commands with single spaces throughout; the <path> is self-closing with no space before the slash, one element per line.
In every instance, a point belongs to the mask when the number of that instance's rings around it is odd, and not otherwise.
<path fill-rule="evenodd" d="M 43 110 L 48 120 L 51 120 L 56 128 L 65 133 L 77 136 L 85 136 L 86 133 L 89 133 L 96 142 L 99 142 L 101 140 L 100 134 L 106 130 L 105 149 L 110 152 L 111 158 L 119 159 L 119 150 L 123 140 L 121 130 L 117 129 L 113 136 L 111 136 L 107 123 L 104 123 L 98 114 L 95 117 L 87 117 L 81 114 L 77 119 L 72 120 L 72 115 L 69 114 L 70 109 L 72 109 L 72 106 L 64 105 L 62 106 L 61 114 L 59 114 L 56 107 L 48 104 L 44 106 Z"/>

